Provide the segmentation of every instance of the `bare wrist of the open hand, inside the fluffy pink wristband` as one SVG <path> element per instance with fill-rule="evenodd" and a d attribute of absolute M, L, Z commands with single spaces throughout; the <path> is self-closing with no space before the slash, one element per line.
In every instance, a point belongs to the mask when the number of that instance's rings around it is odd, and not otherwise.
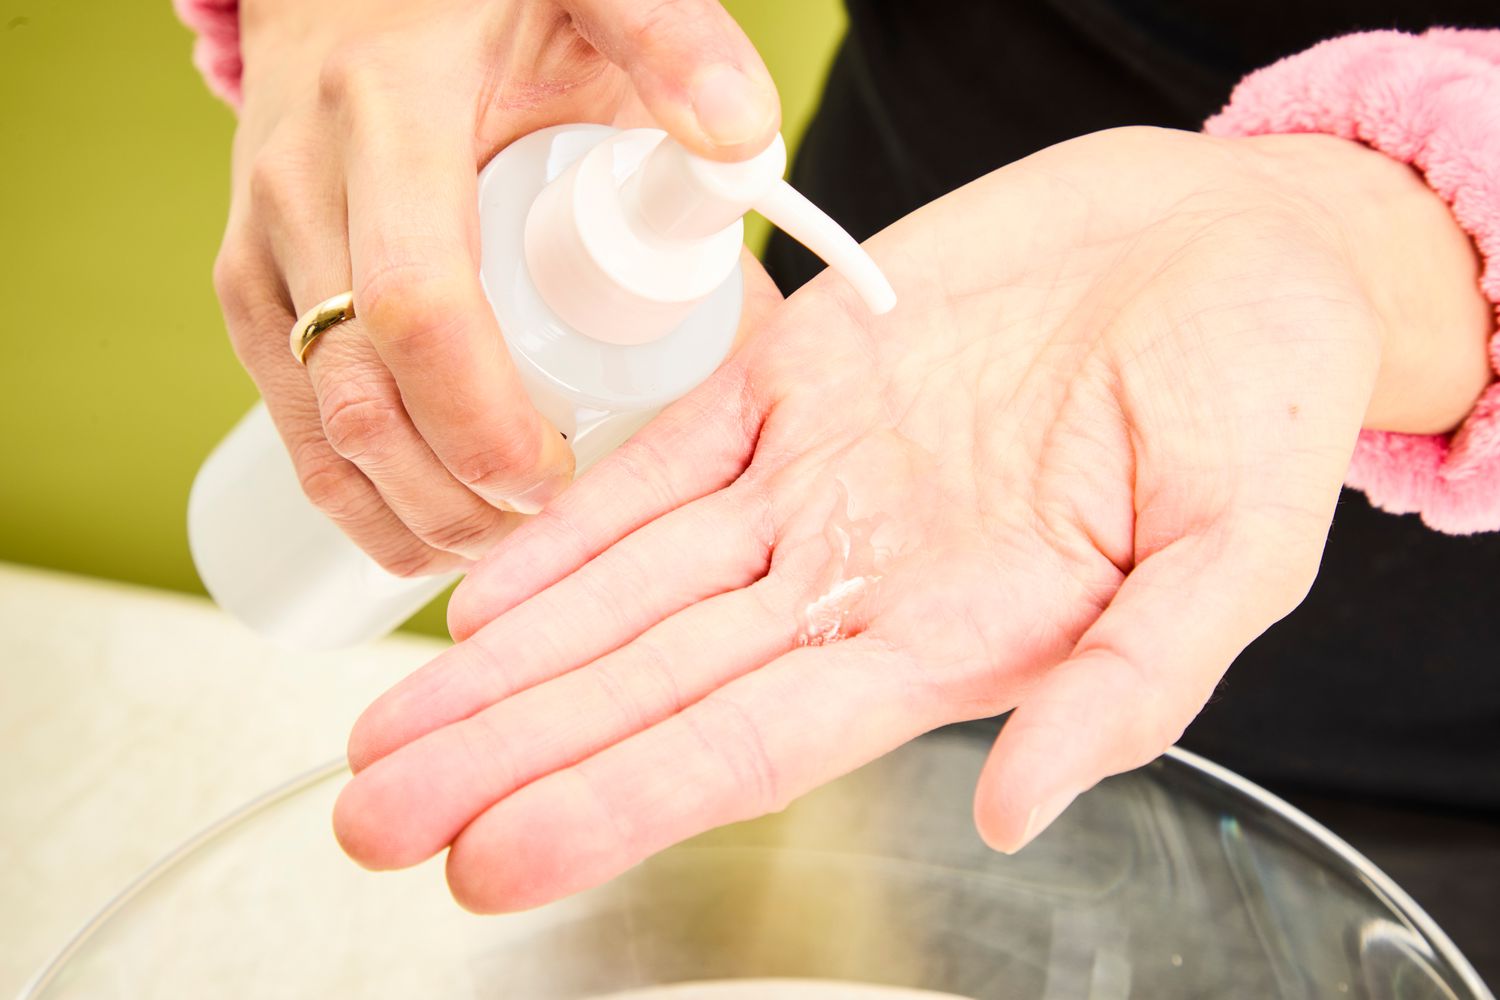
<path fill-rule="evenodd" d="M 1228 141 L 1252 147 L 1274 183 L 1305 198 L 1371 307 L 1380 367 L 1365 429 L 1454 430 L 1491 381 L 1494 306 L 1448 204 L 1414 169 L 1359 142 L 1318 133 Z"/>

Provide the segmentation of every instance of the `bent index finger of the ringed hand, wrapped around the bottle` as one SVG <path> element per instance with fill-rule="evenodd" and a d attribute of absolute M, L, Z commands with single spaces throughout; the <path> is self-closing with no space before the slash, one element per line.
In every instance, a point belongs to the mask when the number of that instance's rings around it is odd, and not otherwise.
<path fill-rule="evenodd" d="M 570 481 L 573 453 L 531 405 L 480 285 L 472 123 L 352 127 L 350 258 L 366 333 L 454 478 L 536 513 Z"/>

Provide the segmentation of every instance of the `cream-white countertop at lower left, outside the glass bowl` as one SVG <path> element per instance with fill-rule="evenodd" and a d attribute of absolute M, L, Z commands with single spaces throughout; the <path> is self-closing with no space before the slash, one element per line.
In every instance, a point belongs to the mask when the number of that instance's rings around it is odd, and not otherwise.
<path fill-rule="evenodd" d="M 442 642 L 290 654 L 206 598 L 0 564 L 0 999 Z"/>

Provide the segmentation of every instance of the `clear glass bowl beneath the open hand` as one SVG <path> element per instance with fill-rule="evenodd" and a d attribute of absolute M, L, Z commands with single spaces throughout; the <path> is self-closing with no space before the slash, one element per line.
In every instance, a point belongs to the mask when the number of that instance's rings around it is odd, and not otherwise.
<path fill-rule="evenodd" d="M 142 874 L 22 997 L 1492 1000 L 1368 861 L 1182 751 L 990 852 L 970 801 L 993 735 L 932 733 L 784 813 L 490 918 L 453 904 L 441 861 L 348 862 L 328 765 Z"/>

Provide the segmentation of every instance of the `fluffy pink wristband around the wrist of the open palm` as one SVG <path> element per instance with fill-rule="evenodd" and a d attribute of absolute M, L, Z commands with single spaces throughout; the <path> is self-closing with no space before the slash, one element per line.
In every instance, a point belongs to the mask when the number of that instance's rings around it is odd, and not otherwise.
<path fill-rule="evenodd" d="M 1258 69 L 1209 135 L 1322 132 L 1410 163 L 1454 210 L 1500 306 L 1500 30 L 1348 34 Z M 1490 342 L 1500 372 L 1500 334 Z M 1500 382 L 1452 435 L 1360 433 L 1347 484 L 1443 532 L 1500 531 Z"/>

